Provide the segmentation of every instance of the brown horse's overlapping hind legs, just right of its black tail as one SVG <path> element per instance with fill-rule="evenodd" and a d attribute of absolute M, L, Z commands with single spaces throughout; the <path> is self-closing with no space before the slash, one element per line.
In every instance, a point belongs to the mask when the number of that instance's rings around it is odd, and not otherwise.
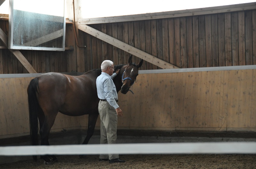
<path fill-rule="evenodd" d="M 57 112 L 58 113 L 58 112 Z M 50 130 L 53 126 L 53 123 L 55 121 L 55 118 L 57 116 L 57 113 L 51 114 L 51 116 L 41 116 L 41 119 L 43 118 L 44 120 L 40 120 L 39 118 L 39 125 L 40 125 L 40 135 L 41 135 L 41 145 L 50 145 L 49 144 L 49 134 Z M 38 116 L 39 117 L 39 116 Z M 57 158 L 54 155 L 43 155 L 41 158 L 44 159 L 46 164 L 51 164 L 52 162 L 57 162 Z"/>

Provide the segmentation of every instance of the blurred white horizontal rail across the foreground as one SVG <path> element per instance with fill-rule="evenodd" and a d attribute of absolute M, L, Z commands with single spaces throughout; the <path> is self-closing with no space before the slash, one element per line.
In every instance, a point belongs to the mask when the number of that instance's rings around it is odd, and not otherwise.
<path fill-rule="evenodd" d="M 256 142 L 3 146 L 0 156 L 78 154 L 256 154 Z"/>

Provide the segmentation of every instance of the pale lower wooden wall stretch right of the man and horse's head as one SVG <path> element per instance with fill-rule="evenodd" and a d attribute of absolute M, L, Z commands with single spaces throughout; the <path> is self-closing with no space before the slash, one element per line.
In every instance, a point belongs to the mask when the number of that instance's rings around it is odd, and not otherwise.
<path fill-rule="evenodd" d="M 118 128 L 256 131 L 256 70 L 139 74 Z"/>

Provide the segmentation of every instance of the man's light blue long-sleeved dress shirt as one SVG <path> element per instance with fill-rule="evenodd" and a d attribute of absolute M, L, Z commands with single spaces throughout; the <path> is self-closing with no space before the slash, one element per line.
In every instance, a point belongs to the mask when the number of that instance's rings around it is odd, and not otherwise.
<path fill-rule="evenodd" d="M 107 100 L 110 106 L 113 106 L 117 109 L 119 106 L 116 103 L 118 100 L 118 95 L 116 92 L 116 86 L 112 79 L 116 77 L 116 73 L 113 73 L 112 76 L 105 72 L 101 72 L 100 76 L 96 79 L 96 87 L 99 99 Z"/>

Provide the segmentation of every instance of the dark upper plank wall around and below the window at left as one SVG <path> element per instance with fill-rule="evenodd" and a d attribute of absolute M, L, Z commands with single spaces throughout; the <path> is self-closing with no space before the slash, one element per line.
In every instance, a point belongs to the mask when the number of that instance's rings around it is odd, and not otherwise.
<path fill-rule="evenodd" d="M 8 21 L 0 20 L 0 28 L 8 35 Z M 66 25 L 66 45 L 65 52 L 60 51 L 37 51 L 20 50 L 28 62 L 37 73 L 46 72 L 77 72 L 76 64 L 76 44 L 73 26 Z M 69 47 L 73 47 L 69 49 Z M 20 61 L 6 48 L 0 40 L 0 74 L 23 74 L 28 71 L 22 66 Z"/>

